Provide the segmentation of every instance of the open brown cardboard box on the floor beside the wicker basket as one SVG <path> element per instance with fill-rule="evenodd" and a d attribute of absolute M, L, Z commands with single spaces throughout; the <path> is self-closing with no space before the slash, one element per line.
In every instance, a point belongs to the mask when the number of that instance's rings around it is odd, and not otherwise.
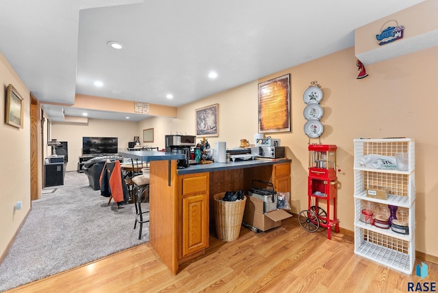
<path fill-rule="evenodd" d="M 256 227 L 261 231 L 266 231 L 281 225 L 281 220 L 292 217 L 291 214 L 283 209 L 263 213 L 263 200 L 254 196 L 246 195 L 244 222 Z"/>

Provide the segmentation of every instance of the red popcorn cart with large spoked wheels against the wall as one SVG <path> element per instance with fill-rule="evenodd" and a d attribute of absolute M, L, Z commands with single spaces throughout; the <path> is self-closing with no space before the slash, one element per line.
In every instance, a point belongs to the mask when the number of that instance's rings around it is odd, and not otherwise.
<path fill-rule="evenodd" d="M 331 229 L 339 233 L 336 217 L 337 176 L 336 149 L 333 144 L 309 145 L 309 177 L 307 181 L 308 209 L 298 214 L 298 221 L 309 232 L 327 228 L 327 238 L 331 239 Z"/>

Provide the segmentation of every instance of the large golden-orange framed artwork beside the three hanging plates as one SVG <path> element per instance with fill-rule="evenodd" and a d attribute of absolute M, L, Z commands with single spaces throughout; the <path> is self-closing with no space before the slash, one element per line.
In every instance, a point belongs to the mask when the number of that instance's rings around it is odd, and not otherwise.
<path fill-rule="evenodd" d="M 259 133 L 291 129 L 290 74 L 259 84 Z"/>

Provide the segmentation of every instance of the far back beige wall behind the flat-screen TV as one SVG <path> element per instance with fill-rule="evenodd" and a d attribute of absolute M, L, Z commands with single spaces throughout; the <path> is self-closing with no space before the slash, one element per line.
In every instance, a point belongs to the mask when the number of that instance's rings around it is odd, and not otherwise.
<path fill-rule="evenodd" d="M 51 138 L 68 142 L 67 171 L 77 170 L 79 156 L 82 155 L 83 136 L 117 137 L 118 147 L 124 149 L 134 136 L 139 136 L 137 122 L 101 119 L 88 119 L 88 125 L 53 123 L 50 132 Z"/>

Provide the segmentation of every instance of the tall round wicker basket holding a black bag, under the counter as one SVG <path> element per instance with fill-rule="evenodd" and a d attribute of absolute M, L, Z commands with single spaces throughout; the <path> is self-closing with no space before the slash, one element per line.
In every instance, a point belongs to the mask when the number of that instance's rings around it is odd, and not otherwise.
<path fill-rule="evenodd" d="M 242 201 L 222 201 L 225 192 L 214 194 L 216 234 L 222 241 L 231 242 L 239 238 L 244 217 L 246 196 Z"/>

